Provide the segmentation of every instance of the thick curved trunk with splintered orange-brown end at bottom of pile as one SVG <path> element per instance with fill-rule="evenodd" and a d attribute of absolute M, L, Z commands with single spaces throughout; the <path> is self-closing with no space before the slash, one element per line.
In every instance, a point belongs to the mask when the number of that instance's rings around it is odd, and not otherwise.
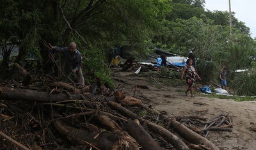
<path fill-rule="evenodd" d="M 89 145 L 93 149 L 139 149 L 134 139 L 125 133 L 110 133 L 108 131 L 84 131 L 68 126 L 57 119 L 53 121 L 56 130 L 65 136 L 70 142 L 80 145 Z"/>

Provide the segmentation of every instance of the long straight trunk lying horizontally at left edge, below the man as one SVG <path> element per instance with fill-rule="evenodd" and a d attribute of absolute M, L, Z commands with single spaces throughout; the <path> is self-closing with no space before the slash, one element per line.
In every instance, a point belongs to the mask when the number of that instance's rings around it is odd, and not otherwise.
<path fill-rule="evenodd" d="M 48 92 L 33 91 L 29 89 L 14 89 L 2 88 L 3 93 L 0 93 L 0 100 L 24 100 L 37 102 L 58 102 L 63 100 L 83 100 L 81 94 L 71 94 L 71 98 L 67 94 L 52 94 Z"/>

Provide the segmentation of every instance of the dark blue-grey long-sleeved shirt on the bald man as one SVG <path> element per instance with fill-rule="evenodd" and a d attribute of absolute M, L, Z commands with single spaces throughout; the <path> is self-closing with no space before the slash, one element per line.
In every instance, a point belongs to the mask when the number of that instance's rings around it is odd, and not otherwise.
<path fill-rule="evenodd" d="M 69 49 L 67 47 L 54 47 L 54 52 L 61 52 L 65 56 L 65 70 L 67 73 L 76 69 L 78 71 L 82 66 L 82 56 L 81 53 L 76 49 L 75 54 L 71 57 Z"/>

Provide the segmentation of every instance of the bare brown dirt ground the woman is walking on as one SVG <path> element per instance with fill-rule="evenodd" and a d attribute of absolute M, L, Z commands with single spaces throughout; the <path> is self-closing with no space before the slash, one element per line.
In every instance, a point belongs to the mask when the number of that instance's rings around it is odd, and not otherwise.
<path fill-rule="evenodd" d="M 116 80 L 116 86 L 129 96 L 133 96 L 137 86 L 136 98 L 159 112 L 166 111 L 168 116 L 200 116 L 209 119 L 220 114 L 230 116 L 234 124 L 232 132 L 210 131 L 207 139 L 220 149 L 256 149 L 256 132 L 252 131 L 252 128 L 256 128 L 256 101 L 237 102 L 230 99 L 209 98 L 202 93 L 196 93 L 196 97 L 191 98 L 184 94 L 186 89 L 184 82 L 140 77 L 140 73 L 134 75 L 132 71 L 115 71 L 112 78 Z"/>

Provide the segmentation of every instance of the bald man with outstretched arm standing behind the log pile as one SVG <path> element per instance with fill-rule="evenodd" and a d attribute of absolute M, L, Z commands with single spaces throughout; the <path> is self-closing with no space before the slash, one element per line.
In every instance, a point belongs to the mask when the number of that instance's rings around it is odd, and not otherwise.
<path fill-rule="evenodd" d="M 52 47 L 49 44 L 49 47 L 53 52 L 62 52 L 65 56 L 65 70 L 64 74 L 68 75 L 69 73 L 77 74 L 77 80 L 79 84 L 84 85 L 84 77 L 81 69 L 82 66 L 82 56 L 79 50 L 76 49 L 76 43 L 72 41 L 69 44 L 69 47 Z"/>

